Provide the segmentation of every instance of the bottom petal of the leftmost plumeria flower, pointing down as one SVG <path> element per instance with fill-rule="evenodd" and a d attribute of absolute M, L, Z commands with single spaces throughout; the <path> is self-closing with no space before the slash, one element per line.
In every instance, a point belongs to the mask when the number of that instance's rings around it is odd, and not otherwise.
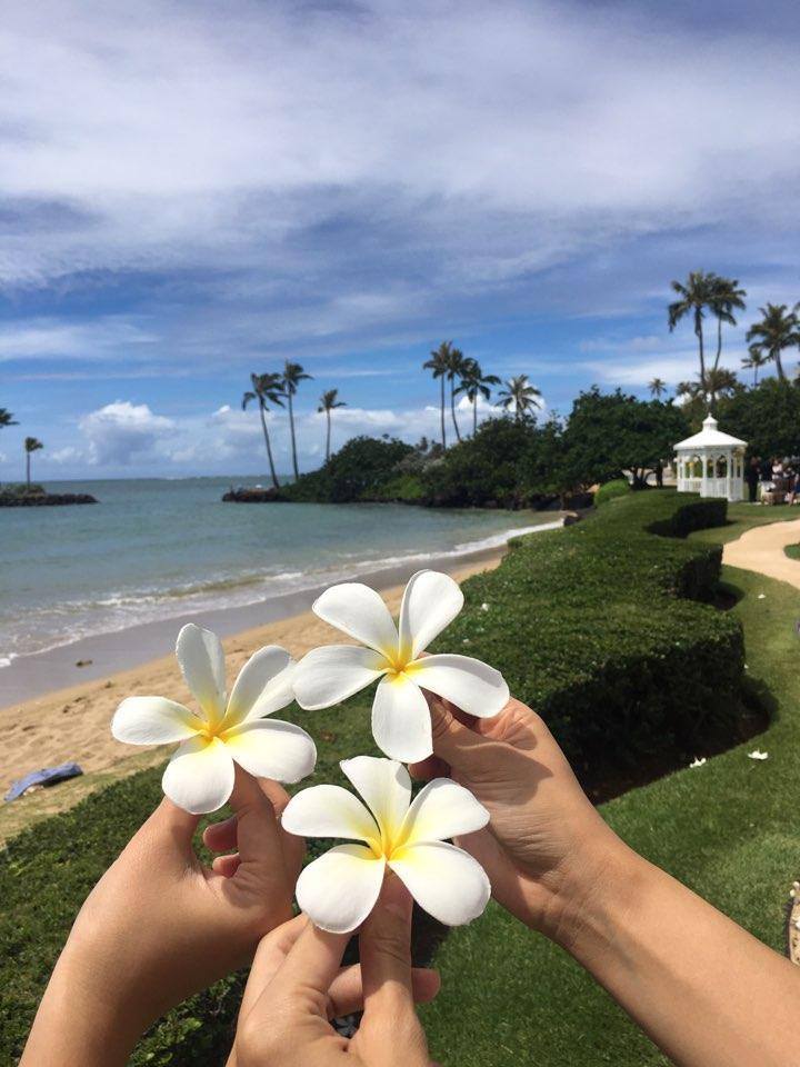
<path fill-rule="evenodd" d="M 233 760 L 222 741 L 197 736 L 183 741 L 167 764 L 161 785 L 179 808 L 206 815 L 228 800 L 234 776 Z"/>

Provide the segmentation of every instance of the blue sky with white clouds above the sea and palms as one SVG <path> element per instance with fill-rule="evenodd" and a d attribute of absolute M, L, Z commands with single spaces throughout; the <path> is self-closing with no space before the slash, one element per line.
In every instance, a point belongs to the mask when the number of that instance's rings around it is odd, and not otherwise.
<path fill-rule="evenodd" d="M 0 479 L 263 469 L 284 357 L 304 467 L 434 432 L 452 338 L 549 409 L 688 377 L 669 281 L 800 299 L 791 7 L 9 0 L 0 27 Z M 286 457 L 286 418 L 273 419 Z M 286 458 L 282 469 L 288 469 Z"/>

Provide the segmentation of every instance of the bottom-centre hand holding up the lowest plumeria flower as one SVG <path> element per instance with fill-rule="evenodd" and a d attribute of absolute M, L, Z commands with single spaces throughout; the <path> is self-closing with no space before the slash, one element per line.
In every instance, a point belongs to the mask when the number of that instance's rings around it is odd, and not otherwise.
<path fill-rule="evenodd" d="M 430 1067 L 413 1001 L 439 978 L 411 967 L 411 897 L 393 875 L 359 936 L 361 965 L 341 967 L 349 934 L 298 916 L 261 943 L 248 980 L 228 1067 Z M 348 1039 L 330 1018 L 363 1006 Z"/>

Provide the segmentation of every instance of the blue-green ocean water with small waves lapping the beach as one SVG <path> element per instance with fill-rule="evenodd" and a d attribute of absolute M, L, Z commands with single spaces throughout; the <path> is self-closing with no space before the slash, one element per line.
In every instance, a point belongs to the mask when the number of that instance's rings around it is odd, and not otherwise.
<path fill-rule="evenodd" d="M 237 479 L 254 485 L 256 479 Z M 501 545 L 553 516 L 222 503 L 227 478 L 58 482 L 96 506 L 0 509 L 0 667 L 129 626 Z"/>

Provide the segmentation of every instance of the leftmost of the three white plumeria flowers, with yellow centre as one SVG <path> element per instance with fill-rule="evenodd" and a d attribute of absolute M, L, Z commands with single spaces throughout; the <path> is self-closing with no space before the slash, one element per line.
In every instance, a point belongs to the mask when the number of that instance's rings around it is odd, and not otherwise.
<path fill-rule="evenodd" d="M 216 634 L 190 622 L 176 656 L 200 714 L 164 697 L 128 697 L 111 732 L 129 745 L 180 741 L 161 785 L 192 815 L 216 811 L 233 790 L 234 762 L 259 778 L 300 781 L 313 770 L 317 749 L 306 730 L 266 719 L 293 699 L 296 664 L 277 645 L 259 649 L 242 667 L 226 702 L 224 652 Z"/>

